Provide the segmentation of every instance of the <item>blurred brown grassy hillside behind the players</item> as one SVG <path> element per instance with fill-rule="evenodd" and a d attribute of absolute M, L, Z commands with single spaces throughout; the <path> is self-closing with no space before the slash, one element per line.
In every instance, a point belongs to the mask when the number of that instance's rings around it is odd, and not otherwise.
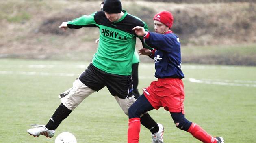
<path fill-rule="evenodd" d="M 76 59 L 78 56 L 68 54 L 86 51 L 88 55 L 82 59 L 91 60 L 97 48 L 94 41 L 98 38 L 98 29 L 68 29 L 64 33 L 58 26 L 63 21 L 98 11 L 100 2 L 1 0 L 0 57 L 58 59 L 65 54 Z M 151 30 L 155 13 L 171 11 L 174 14 L 172 30 L 183 46 L 256 43 L 255 3 L 175 4 L 138 0 L 122 0 L 122 3 L 128 13 L 140 17 Z M 140 48 L 139 42 L 137 48 Z"/>

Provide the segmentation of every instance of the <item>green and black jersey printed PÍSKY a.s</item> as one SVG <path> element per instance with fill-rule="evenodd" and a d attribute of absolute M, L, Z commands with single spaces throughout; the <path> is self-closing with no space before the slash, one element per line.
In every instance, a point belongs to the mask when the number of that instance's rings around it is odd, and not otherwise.
<path fill-rule="evenodd" d="M 148 25 L 125 10 L 123 12 L 121 19 L 113 23 L 106 18 L 104 11 L 98 11 L 69 21 L 67 26 L 69 28 L 98 27 L 100 41 L 98 50 L 93 55 L 93 65 L 107 73 L 130 75 L 136 44 L 136 34 L 132 28 L 142 26 L 148 30 Z"/>

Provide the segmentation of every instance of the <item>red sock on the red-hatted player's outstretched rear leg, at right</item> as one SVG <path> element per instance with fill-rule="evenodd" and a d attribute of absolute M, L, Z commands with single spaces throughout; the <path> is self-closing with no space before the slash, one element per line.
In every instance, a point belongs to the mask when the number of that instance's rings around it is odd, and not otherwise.
<path fill-rule="evenodd" d="M 217 143 L 214 137 L 204 131 L 199 125 L 192 123 L 187 132 L 191 133 L 195 138 L 203 143 Z"/>

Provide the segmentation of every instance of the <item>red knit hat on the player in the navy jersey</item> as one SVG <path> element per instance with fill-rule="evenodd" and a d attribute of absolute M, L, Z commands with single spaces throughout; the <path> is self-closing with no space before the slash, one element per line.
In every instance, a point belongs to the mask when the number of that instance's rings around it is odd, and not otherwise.
<path fill-rule="evenodd" d="M 174 17 L 172 16 L 171 12 L 169 11 L 161 11 L 160 13 L 157 13 L 153 20 L 160 21 L 167 27 L 171 28 L 172 23 L 174 22 Z"/>

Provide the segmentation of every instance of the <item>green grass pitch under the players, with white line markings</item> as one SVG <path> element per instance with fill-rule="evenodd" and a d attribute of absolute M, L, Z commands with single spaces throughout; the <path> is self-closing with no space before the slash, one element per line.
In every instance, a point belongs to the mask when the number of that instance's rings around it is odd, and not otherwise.
<path fill-rule="evenodd" d="M 0 143 L 54 143 L 61 132 L 73 133 L 78 143 L 126 143 L 128 117 L 103 88 L 83 101 L 52 138 L 33 137 L 30 124 L 46 124 L 61 103 L 57 95 L 72 86 L 84 71 L 83 61 L 0 59 Z M 256 143 L 256 67 L 187 65 L 186 118 L 226 143 Z M 154 78 L 154 64 L 140 63 L 139 90 Z M 163 108 L 150 111 L 165 126 L 165 143 L 200 143 L 175 127 Z M 141 127 L 140 143 L 150 143 Z"/>

